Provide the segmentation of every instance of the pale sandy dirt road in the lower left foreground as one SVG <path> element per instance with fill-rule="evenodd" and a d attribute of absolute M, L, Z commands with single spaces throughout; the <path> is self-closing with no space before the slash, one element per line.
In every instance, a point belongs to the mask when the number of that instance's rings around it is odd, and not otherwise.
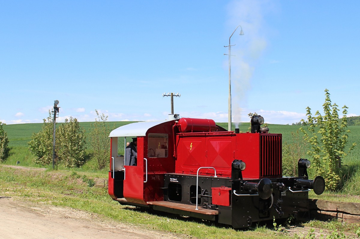
<path fill-rule="evenodd" d="M 0 239 L 181 238 L 119 224 L 72 208 L 32 204 L 0 195 Z"/>

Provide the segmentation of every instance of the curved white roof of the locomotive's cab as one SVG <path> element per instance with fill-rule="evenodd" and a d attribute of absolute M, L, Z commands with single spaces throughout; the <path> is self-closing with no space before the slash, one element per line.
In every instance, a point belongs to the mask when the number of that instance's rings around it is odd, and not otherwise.
<path fill-rule="evenodd" d="M 149 128 L 167 121 L 144 121 L 120 126 L 110 132 L 109 137 L 145 136 Z"/>

